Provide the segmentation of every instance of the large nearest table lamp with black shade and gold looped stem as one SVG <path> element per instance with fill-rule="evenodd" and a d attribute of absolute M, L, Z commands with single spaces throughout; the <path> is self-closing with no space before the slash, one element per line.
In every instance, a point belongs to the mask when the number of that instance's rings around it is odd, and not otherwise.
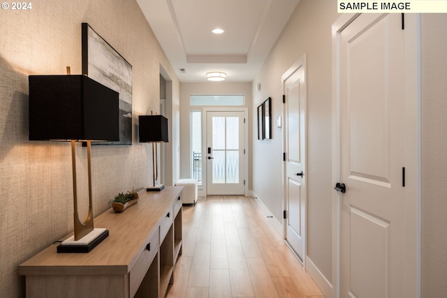
<path fill-rule="evenodd" d="M 58 253 L 88 253 L 108 237 L 95 229 L 91 200 L 91 141 L 119 140 L 118 93 L 85 75 L 29 76 L 29 140 L 71 141 L 73 164 L 74 237 L 57 247 Z M 87 142 L 89 213 L 78 215 L 75 142 Z"/>

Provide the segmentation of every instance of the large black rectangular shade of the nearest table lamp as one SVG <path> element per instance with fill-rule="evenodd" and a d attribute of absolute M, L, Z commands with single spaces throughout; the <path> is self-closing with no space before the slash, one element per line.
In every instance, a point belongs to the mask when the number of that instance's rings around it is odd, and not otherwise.
<path fill-rule="evenodd" d="M 29 140 L 119 141 L 118 96 L 86 75 L 30 75 Z"/>

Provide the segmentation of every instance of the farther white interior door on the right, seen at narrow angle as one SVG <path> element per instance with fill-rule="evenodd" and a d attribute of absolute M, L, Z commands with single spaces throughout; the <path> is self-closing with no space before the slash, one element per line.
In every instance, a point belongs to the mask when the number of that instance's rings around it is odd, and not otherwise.
<path fill-rule="evenodd" d="M 306 85 L 305 57 L 283 76 L 285 147 L 285 239 L 305 259 L 306 234 Z"/>

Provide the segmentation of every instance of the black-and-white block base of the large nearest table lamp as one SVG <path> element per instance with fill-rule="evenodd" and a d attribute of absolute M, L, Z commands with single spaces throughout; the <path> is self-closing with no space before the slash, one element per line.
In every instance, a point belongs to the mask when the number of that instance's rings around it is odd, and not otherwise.
<path fill-rule="evenodd" d="M 85 235 L 78 241 L 75 241 L 75 236 L 64 240 L 57 246 L 58 253 L 89 253 L 93 248 L 101 243 L 109 235 L 109 231 L 105 228 L 96 228 L 89 234 Z"/>

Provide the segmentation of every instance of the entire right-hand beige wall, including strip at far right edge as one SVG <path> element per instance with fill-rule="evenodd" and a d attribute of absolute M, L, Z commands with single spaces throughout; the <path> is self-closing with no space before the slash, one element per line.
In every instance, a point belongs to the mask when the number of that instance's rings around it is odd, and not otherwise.
<path fill-rule="evenodd" d="M 281 75 L 302 54 L 307 54 L 307 257 L 328 283 L 333 283 L 335 278 L 331 258 L 331 25 L 339 17 L 332 3 L 300 1 L 253 82 L 251 106 L 253 115 L 257 105 L 272 96 L 273 120 L 282 115 Z M 421 297 L 446 297 L 447 17 L 422 15 L 421 27 Z M 258 83 L 262 87 L 260 93 L 255 91 Z M 254 118 L 251 125 L 256 126 Z M 282 215 L 281 135 L 278 128 L 274 128 L 273 140 L 258 141 L 252 135 L 253 191 L 278 221 Z"/>

